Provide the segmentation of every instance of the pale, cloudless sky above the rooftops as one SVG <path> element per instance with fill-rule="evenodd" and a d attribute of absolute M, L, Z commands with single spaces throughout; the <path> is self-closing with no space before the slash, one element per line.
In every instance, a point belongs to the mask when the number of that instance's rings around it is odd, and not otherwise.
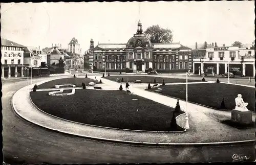
<path fill-rule="evenodd" d="M 254 1 L 1 3 L 1 36 L 25 46 L 68 48 L 73 37 L 82 52 L 90 40 L 126 43 L 142 29 L 159 25 L 173 31 L 173 42 L 252 43 Z"/>

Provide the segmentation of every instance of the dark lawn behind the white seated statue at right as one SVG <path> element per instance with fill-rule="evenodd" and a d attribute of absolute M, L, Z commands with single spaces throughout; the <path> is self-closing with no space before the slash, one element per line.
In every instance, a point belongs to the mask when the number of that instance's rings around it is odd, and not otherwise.
<path fill-rule="evenodd" d="M 161 85 L 162 94 L 185 100 L 186 85 Z M 148 89 L 146 89 L 148 90 Z M 150 89 L 154 91 L 154 88 Z M 255 89 L 240 85 L 209 83 L 209 84 L 188 84 L 188 101 L 219 109 L 222 99 L 227 109 L 236 107 L 234 99 L 238 94 L 242 95 L 244 102 L 249 105 L 247 108 L 254 111 Z"/>

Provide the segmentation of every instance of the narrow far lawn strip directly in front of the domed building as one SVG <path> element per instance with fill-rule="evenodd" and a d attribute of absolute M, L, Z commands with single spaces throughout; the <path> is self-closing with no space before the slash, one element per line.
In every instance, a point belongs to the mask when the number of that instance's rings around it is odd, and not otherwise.
<path fill-rule="evenodd" d="M 175 79 L 175 78 L 163 78 L 163 77 L 153 77 L 153 76 L 106 76 L 105 79 L 115 81 L 117 78 L 119 81 L 123 78 L 123 81 L 134 82 L 135 80 L 141 80 L 141 83 L 154 83 L 156 78 L 156 83 L 182 83 L 186 82 L 186 79 Z M 201 82 L 199 80 L 188 80 L 188 82 Z"/>

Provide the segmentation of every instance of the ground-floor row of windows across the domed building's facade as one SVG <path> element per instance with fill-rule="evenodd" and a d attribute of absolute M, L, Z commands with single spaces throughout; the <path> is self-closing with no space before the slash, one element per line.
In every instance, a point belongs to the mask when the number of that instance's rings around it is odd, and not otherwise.
<path fill-rule="evenodd" d="M 126 68 L 126 63 L 114 63 L 114 62 L 106 62 L 106 68 L 109 69 L 110 67 L 112 69 L 115 69 L 115 66 L 117 69 L 120 69 L 121 66 L 122 66 L 122 69 Z M 157 68 L 157 64 L 159 65 L 159 69 L 169 69 L 170 67 L 172 69 L 176 69 L 176 63 L 153 63 L 153 69 L 158 69 Z M 165 67 L 163 67 L 163 65 Z M 94 66 L 96 66 L 97 68 L 103 68 L 102 67 L 102 62 L 94 62 Z M 133 62 L 129 62 L 129 68 L 132 69 L 133 68 Z M 150 68 L 150 63 L 149 62 L 145 62 L 145 69 L 148 69 Z M 179 63 L 179 69 L 188 69 L 188 62 L 184 62 L 184 65 L 183 65 L 183 62 L 180 62 Z"/>

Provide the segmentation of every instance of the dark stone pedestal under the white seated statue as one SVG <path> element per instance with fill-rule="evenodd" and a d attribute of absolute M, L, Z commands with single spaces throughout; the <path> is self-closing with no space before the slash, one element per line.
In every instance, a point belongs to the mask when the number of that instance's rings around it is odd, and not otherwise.
<path fill-rule="evenodd" d="M 231 119 L 233 121 L 239 122 L 240 124 L 250 124 L 252 123 L 252 112 L 232 109 Z"/>

